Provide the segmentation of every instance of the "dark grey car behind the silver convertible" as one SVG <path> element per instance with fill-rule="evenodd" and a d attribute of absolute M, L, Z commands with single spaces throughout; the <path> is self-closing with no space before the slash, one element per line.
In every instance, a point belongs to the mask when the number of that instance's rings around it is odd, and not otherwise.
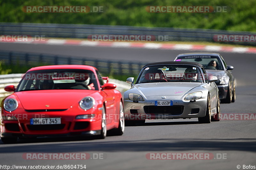
<path fill-rule="evenodd" d="M 196 62 L 204 66 L 208 76 L 216 76 L 221 103 L 231 103 L 236 100 L 235 78 L 232 75 L 233 66 L 227 65 L 219 53 L 184 53 L 176 56 L 174 61 Z"/>

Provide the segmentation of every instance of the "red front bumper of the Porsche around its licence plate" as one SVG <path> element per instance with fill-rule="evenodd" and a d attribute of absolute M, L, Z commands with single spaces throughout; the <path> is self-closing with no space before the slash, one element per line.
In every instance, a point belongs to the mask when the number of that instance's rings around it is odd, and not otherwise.
<path fill-rule="evenodd" d="M 2 110 L 1 137 L 44 137 L 44 136 L 77 136 L 99 135 L 101 131 L 101 110 L 92 108 L 81 112 L 80 109 L 64 111 L 26 111 L 17 109 L 13 113 Z M 22 113 L 22 114 L 20 114 Z M 77 114 L 74 114 L 77 113 Z M 93 119 L 75 119 L 77 115 L 94 114 Z M 17 120 L 6 120 L 6 117 Z M 5 119 L 3 119 L 5 117 Z M 32 118 L 61 118 L 61 124 L 32 125 Z"/>

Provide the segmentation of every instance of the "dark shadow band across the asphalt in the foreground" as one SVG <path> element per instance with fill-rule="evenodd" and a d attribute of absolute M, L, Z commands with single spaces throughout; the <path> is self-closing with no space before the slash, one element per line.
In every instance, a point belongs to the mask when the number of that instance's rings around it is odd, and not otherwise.
<path fill-rule="evenodd" d="M 54 139 L 54 138 L 53 138 Z M 46 139 L 38 139 L 40 142 Z M 56 138 L 55 138 L 56 140 Z M 61 139 L 61 141 L 63 141 Z M 202 151 L 250 151 L 256 152 L 256 139 L 154 139 L 136 141 L 81 141 L 68 143 L 34 143 L 34 144 L 5 144 L 1 147 L 2 153 L 30 153 L 30 152 L 189 152 Z"/>

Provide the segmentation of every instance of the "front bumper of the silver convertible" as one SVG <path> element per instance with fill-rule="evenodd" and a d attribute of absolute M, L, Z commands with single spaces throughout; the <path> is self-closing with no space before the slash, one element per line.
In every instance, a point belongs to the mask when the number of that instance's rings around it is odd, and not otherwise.
<path fill-rule="evenodd" d="M 196 101 L 188 101 L 183 99 L 183 95 L 180 96 L 166 96 L 165 99 L 162 99 L 162 96 L 150 96 L 148 100 L 133 102 L 129 99 L 124 99 L 124 114 L 126 120 L 143 120 L 143 119 L 180 119 L 180 118 L 197 118 L 204 117 L 206 113 L 206 105 L 207 105 L 207 97 L 202 97 L 201 99 L 197 99 Z M 155 106 L 156 100 L 173 100 L 173 106 L 183 108 L 180 113 L 172 113 L 172 108 L 170 113 L 168 111 L 164 111 L 162 113 L 158 109 L 161 106 Z M 152 106 L 154 110 L 150 113 L 146 113 L 149 109 L 145 109 L 144 107 Z M 154 107 L 155 106 L 155 107 Z M 152 108 L 151 107 L 151 108 Z M 146 112 L 145 112 L 146 111 Z M 156 111 L 156 113 L 154 113 Z"/>

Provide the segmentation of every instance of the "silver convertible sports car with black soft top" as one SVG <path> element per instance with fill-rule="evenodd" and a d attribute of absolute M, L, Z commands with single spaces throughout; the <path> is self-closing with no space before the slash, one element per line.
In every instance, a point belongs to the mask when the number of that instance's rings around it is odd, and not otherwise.
<path fill-rule="evenodd" d="M 128 124 L 145 119 L 198 118 L 200 123 L 220 120 L 219 90 L 204 66 L 194 62 L 158 62 L 145 65 L 124 92 Z"/>

